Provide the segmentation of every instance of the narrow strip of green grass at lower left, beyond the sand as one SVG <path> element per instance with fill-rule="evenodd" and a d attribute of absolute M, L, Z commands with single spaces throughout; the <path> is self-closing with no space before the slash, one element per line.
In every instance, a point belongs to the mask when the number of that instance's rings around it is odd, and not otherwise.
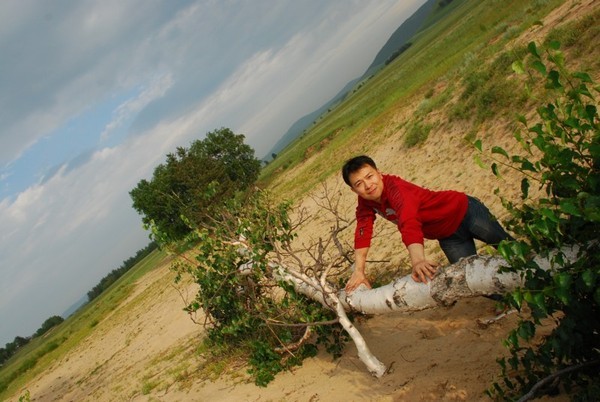
<path fill-rule="evenodd" d="M 47 370 L 100 326 L 102 319 L 117 309 L 134 289 L 135 282 L 165 260 L 153 251 L 100 297 L 82 307 L 48 334 L 34 338 L 0 369 L 0 400 L 13 395 L 27 381 Z"/>

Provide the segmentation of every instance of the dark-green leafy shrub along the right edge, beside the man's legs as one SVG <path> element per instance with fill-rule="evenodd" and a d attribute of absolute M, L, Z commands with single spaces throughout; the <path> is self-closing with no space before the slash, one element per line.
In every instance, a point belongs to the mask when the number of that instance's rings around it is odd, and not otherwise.
<path fill-rule="evenodd" d="M 510 357 L 499 360 L 502 382 L 495 383 L 489 394 L 530 397 L 548 392 L 547 383 L 556 388 L 560 382 L 581 400 L 598 400 L 600 87 L 588 74 L 566 69 L 557 42 L 549 43 L 545 53 L 534 43 L 528 49 L 528 68 L 516 62 L 515 71 L 527 70 L 532 88 L 541 76 L 554 99 L 537 109 L 539 122 L 519 117 L 525 130 L 517 131 L 515 138 L 524 155 L 509 155 L 501 147 L 491 152 L 498 155 L 492 164 L 495 174 L 499 174 L 498 164 L 523 174 L 522 204 L 503 199 L 511 214 L 508 227 L 523 240 L 502 244 L 500 252 L 510 263 L 506 270 L 524 279 L 524 286 L 506 302 L 520 311 L 527 306 L 530 314 L 523 315 L 509 334 Z M 481 149 L 480 142 L 476 145 Z M 543 190 L 540 199 L 529 199 L 532 184 Z M 580 249 L 569 260 L 565 250 L 573 245 Z M 534 255 L 549 258 L 552 269 L 542 269 Z M 548 319 L 554 323 L 552 332 L 537 340 L 537 329 Z"/>

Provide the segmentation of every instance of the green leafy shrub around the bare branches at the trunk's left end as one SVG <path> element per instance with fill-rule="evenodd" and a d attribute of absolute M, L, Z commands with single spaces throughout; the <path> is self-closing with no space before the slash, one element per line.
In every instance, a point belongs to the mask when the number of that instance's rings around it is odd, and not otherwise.
<path fill-rule="evenodd" d="M 194 232 L 195 260 L 173 266 L 177 280 L 187 273 L 200 285 L 186 310 L 205 312 L 206 349 L 242 352 L 259 386 L 314 356 L 317 344 L 339 355 L 347 340 L 332 311 L 273 275 L 268 257 L 281 256 L 295 237 L 289 208 L 260 192 L 230 200 Z M 309 328 L 316 337 L 298 343 Z"/>

